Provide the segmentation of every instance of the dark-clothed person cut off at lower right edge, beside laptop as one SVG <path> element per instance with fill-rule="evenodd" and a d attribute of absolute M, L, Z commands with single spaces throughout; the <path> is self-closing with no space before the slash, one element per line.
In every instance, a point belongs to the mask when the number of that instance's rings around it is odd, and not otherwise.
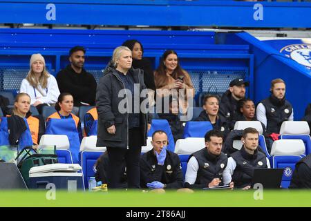
<path fill-rule="evenodd" d="M 311 189 L 311 154 L 296 163 L 290 189 Z"/>

